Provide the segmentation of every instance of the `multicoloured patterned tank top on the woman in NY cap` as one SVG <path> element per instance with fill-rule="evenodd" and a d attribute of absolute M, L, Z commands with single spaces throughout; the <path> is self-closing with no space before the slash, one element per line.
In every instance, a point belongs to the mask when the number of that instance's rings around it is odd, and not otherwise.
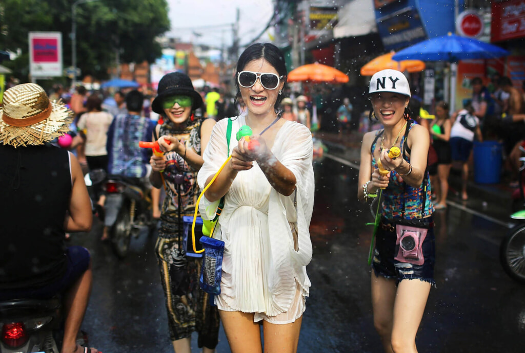
<path fill-rule="evenodd" d="M 410 131 L 415 123 L 409 125 L 408 130 Z M 378 130 L 376 136 L 381 133 L 382 130 Z M 406 134 L 405 134 L 406 135 Z M 405 155 L 405 135 L 401 139 L 400 149 L 403 151 L 403 156 L 405 160 L 410 162 L 410 158 Z M 381 137 L 375 139 L 372 144 L 371 151 L 372 153 L 372 168 L 377 168 L 377 161 L 375 160 L 376 156 L 379 154 L 379 149 L 381 149 Z M 382 204 L 382 213 L 383 216 L 387 219 L 393 218 L 406 218 L 414 219 L 421 218 L 422 216 L 422 206 L 423 198 L 422 195 L 425 193 L 425 209 L 424 217 L 434 213 L 434 205 L 432 203 L 432 190 L 430 190 L 430 178 L 428 171 L 426 171 L 427 177 L 423 179 L 423 182 L 426 181 L 425 185 L 419 187 L 410 186 L 404 182 L 400 181 L 400 175 L 396 171 L 390 173 L 390 183 L 388 187 L 383 190 L 383 204 Z M 404 195 L 404 196 L 403 196 Z M 405 214 L 403 216 L 403 201 L 405 205 Z"/>

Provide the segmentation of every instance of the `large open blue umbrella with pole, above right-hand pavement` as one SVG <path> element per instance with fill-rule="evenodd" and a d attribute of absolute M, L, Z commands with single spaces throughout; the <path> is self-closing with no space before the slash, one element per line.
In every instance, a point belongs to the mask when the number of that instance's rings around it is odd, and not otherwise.
<path fill-rule="evenodd" d="M 493 59 L 509 55 L 498 46 L 477 39 L 460 37 L 449 33 L 447 36 L 418 42 L 398 51 L 393 60 L 445 61 L 450 63 L 450 107 L 455 108 L 457 62 L 466 59 Z"/>

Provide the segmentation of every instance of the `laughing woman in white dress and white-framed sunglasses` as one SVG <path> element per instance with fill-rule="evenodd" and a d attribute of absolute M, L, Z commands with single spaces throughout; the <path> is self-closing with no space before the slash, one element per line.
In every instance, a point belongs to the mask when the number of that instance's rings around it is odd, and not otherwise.
<path fill-rule="evenodd" d="M 296 352 L 310 288 L 312 138 L 304 125 L 280 117 L 286 75 L 284 56 L 270 43 L 256 43 L 241 54 L 236 100 L 242 98 L 247 112 L 232 118 L 229 151 L 228 119 L 216 124 L 197 177 L 204 188 L 228 152 L 232 155 L 200 211 L 212 219 L 216 206 L 210 206 L 225 196 L 220 231 L 215 230 L 225 242 L 215 303 L 233 353 L 262 351 L 261 320 L 265 351 Z M 258 144 L 237 142 L 243 125 L 251 127 L 251 141 Z"/>

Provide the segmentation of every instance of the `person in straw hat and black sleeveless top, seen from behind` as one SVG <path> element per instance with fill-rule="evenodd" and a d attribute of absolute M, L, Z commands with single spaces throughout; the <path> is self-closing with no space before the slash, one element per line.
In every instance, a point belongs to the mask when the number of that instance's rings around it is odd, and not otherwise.
<path fill-rule="evenodd" d="M 65 247 L 66 231 L 89 231 L 92 214 L 80 164 L 48 142 L 69 130 L 72 112 L 34 83 L 4 93 L 0 108 L 0 300 L 62 294 L 61 352 L 98 352 L 76 337 L 91 293 L 90 255 Z M 28 222 L 30 220 L 30 222 Z"/>

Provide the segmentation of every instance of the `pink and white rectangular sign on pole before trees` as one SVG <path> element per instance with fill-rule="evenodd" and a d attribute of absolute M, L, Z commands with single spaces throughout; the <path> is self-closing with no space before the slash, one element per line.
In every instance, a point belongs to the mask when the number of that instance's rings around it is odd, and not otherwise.
<path fill-rule="evenodd" d="M 33 78 L 62 76 L 61 32 L 29 32 L 29 72 Z"/>

